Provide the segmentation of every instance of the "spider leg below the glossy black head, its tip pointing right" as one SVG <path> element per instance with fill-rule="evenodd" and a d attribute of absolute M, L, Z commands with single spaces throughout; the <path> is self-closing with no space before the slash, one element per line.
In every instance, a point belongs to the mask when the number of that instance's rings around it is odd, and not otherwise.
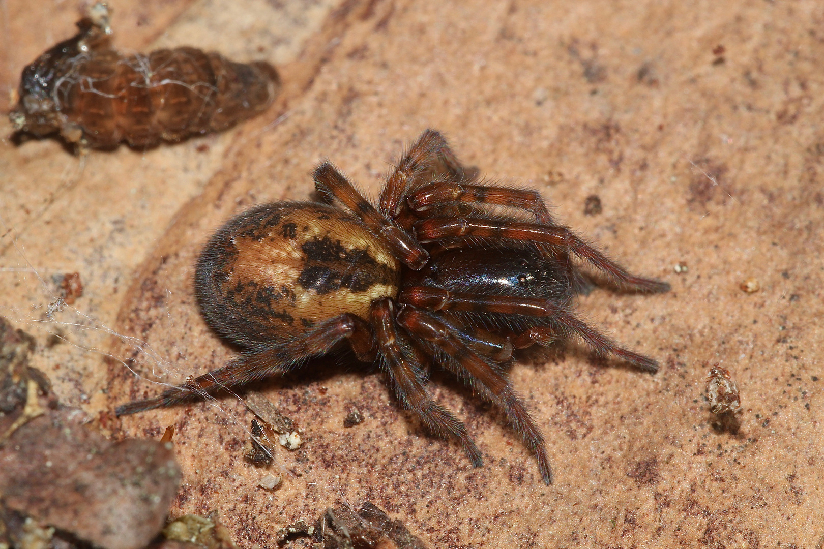
<path fill-rule="evenodd" d="M 615 355 L 623 361 L 638 366 L 648 372 L 658 371 L 658 362 L 644 355 L 620 347 L 609 337 L 590 328 L 587 323 L 569 313 L 551 300 L 536 297 L 518 297 L 509 295 L 474 295 L 453 293 L 442 288 L 427 286 L 410 286 L 400 292 L 400 303 L 407 303 L 428 310 L 471 311 L 475 313 L 525 314 L 528 316 L 550 319 L 556 328 L 546 326 L 529 328 L 513 339 L 513 346 L 518 349 L 538 344 L 547 346 L 564 336 L 577 336 L 583 339 L 597 356 Z"/>

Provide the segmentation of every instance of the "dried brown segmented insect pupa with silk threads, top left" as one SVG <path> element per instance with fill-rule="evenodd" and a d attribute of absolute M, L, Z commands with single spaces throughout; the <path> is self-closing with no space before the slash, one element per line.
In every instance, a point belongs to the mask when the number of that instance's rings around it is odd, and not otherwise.
<path fill-rule="evenodd" d="M 9 119 L 37 137 L 59 132 L 81 147 L 152 147 L 219 132 L 266 109 L 280 88 L 265 62 L 234 63 L 181 47 L 150 54 L 111 48 L 110 10 L 98 2 L 80 31 L 23 70 Z"/>

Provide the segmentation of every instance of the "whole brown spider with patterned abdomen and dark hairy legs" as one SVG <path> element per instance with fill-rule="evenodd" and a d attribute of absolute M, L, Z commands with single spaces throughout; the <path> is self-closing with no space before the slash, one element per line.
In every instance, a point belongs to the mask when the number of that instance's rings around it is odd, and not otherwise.
<path fill-rule="evenodd" d="M 500 408 L 550 484 L 544 436 L 508 378 L 513 349 L 579 337 L 597 356 L 658 370 L 578 319 L 573 300 L 591 283 L 648 293 L 667 283 L 630 274 L 555 223 L 537 191 L 481 183 L 440 133 L 425 131 L 405 152 L 377 207 L 328 161 L 313 177 L 320 202 L 252 207 L 199 258 L 205 318 L 246 351 L 119 416 L 283 375 L 347 342 L 380 366 L 403 407 L 480 467 L 464 423 L 426 390 L 432 365 L 452 372 Z"/>

